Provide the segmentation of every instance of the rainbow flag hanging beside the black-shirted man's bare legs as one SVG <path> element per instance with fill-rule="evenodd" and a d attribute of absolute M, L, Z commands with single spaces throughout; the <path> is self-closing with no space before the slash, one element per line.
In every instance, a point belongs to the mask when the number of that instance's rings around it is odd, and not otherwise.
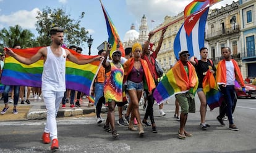
<path fill-rule="evenodd" d="M 207 104 L 211 110 L 221 106 L 224 97 L 218 90 L 215 77 L 210 72 L 210 69 L 208 69 L 207 74 L 203 77 L 203 93 L 205 93 Z"/>

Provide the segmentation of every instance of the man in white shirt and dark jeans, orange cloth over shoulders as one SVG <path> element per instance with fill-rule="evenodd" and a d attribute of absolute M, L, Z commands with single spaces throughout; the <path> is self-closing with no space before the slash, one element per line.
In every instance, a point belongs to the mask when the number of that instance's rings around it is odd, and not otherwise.
<path fill-rule="evenodd" d="M 223 60 L 218 63 L 216 71 L 216 81 L 220 87 L 221 93 L 224 95 L 225 100 L 220 106 L 220 116 L 217 120 L 221 125 L 225 125 L 222 118 L 225 114 L 228 116 L 229 129 L 238 131 L 239 129 L 234 125 L 232 116 L 232 107 L 234 105 L 234 84 L 235 80 L 239 82 L 242 89 L 245 91 L 244 79 L 242 79 L 241 70 L 236 60 L 231 59 L 231 49 L 229 47 L 221 48 Z"/>

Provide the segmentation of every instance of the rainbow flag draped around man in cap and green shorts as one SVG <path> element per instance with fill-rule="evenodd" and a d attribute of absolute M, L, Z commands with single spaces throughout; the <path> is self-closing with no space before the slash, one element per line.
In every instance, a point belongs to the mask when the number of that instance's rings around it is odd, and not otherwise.
<path fill-rule="evenodd" d="M 158 104 L 171 98 L 178 93 L 186 93 L 193 88 L 193 93 L 197 91 L 198 77 L 194 66 L 188 62 L 189 75 L 187 75 L 184 65 L 177 61 L 176 65 L 166 73 L 161 82 L 155 88 L 153 96 Z"/>

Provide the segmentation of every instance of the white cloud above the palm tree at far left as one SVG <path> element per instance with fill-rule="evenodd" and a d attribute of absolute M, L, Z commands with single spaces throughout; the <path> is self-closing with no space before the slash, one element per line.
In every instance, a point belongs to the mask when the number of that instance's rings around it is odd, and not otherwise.
<path fill-rule="evenodd" d="M 7 26 L 20 25 L 22 28 L 35 29 L 35 17 L 38 11 L 40 10 L 35 8 L 31 11 L 18 10 L 9 15 L 0 15 L 0 23 Z"/>

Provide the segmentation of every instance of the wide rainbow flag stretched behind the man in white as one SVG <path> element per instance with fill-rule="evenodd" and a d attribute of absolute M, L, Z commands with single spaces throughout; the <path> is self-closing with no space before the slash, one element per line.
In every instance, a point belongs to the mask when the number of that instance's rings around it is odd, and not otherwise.
<path fill-rule="evenodd" d="M 30 58 L 41 47 L 30 49 L 12 49 L 18 55 Z M 79 59 L 90 59 L 95 56 L 81 55 L 74 50 L 69 50 Z M 25 65 L 6 55 L 4 69 L 2 71 L 2 84 L 41 87 L 41 75 L 43 73 L 43 58 L 32 65 Z M 67 59 L 66 61 L 66 88 L 77 90 L 90 95 L 93 80 L 98 73 L 101 61 L 93 61 L 86 65 L 77 65 Z"/>

